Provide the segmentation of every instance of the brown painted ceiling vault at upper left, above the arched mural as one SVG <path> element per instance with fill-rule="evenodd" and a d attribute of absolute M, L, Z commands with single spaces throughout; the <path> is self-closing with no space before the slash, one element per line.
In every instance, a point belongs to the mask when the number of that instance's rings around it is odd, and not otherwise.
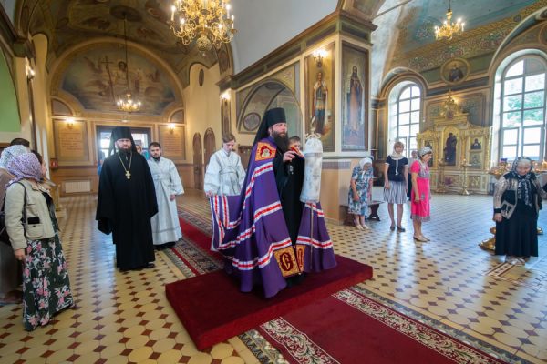
<path fill-rule="evenodd" d="M 122 39 L 124 17 L 128 41 L 159 55 L 176 73 L 195 60 L 209 67 L 218 59 L 214 50 L 202 55 L 193 45 L 182 45 L 177 40 L 167 24 L 168 1 L 26 0 L 20 8 L 19 28 L 28 29 L 31 35 L 44 33 L 49 40 L 47 66 L 72 46 L 89 39 L 105 36 Z"/>

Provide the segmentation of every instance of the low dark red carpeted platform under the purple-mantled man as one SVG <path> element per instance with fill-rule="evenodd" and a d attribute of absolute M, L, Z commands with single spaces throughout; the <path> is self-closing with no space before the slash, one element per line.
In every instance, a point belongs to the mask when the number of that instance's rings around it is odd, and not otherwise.
<path fill-rule="evenodd" d="M 259 289 L 240 292 L 237 281 L 223 271 L 170 283 L 165 290 L 196 348 L 202 350 L 372 278 L 372 268 L 365 264 L 340 256 L 336 261 L 336 268 L 309 274 L 301 284 L 269 299 Z"/>

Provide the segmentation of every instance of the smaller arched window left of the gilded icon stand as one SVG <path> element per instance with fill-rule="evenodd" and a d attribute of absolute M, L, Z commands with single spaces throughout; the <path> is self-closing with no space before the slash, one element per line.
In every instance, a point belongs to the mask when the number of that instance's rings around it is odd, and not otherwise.
<path fill-rule="evenodd" d="M 389 96 L 389 144 L 397 140 L 405 144 L 407 157 L 418 148 L 416 135 L 419 133 L 421 114 L 421 90 L 417 84 L 401 82 Z M 388 152 L 390 150 L 388 149 Z"/>

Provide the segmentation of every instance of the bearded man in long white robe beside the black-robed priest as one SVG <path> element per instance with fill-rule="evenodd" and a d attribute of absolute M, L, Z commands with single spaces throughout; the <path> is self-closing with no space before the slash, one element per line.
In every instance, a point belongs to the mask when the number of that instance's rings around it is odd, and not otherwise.
<path fill-rule="evenodd" d="M 184 188 L 175 164 L 161 157 L 160 143 L 150 143 L 149 150 L 151 158 L 148 163 L 158 200 L 158 213 L 151 219 L 152 237 L 154 247 L 160 250 L 173 247 L 182 238 L 175 197 L 182 195 Z"/>

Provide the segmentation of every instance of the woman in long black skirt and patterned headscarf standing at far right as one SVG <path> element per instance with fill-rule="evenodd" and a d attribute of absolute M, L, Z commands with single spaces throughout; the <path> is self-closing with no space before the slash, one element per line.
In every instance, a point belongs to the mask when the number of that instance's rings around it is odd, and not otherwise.
<path fill-rule="evenodd" d="M 538 256 L 537 221 L 542 197 L 546 196 L 532 172 L 532 160 L 515 159 L 511 171 L 500 177 L 494 190 L 496 255 L 505 255 L 505 261 L 515 265 Z"/>

